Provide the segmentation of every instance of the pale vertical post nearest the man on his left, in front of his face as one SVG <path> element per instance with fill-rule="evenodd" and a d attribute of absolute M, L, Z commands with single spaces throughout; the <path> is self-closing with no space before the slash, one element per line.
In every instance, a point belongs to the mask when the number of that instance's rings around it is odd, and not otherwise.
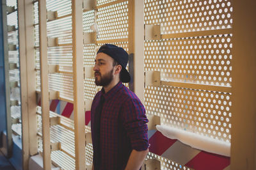
<path fill-rule="evenodd" d="M 83 1 L 80 0 L 72 0 L 72 44 L 76 169 L 84 169 Z"/>

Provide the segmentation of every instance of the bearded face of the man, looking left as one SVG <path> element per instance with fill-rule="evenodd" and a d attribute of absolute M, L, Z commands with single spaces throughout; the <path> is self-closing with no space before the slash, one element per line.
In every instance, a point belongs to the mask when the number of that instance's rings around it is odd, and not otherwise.
<path fill-rule="evenodd" d="M 113 81 L 113 61 L 113 58 L 103 52 L 97 54 L 93 67 L 97 86 L 108 86 Z"/>

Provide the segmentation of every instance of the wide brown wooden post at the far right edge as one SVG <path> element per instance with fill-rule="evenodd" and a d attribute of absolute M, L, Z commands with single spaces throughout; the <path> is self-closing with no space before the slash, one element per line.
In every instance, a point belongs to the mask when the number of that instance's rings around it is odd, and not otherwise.
<path fill-rule="evenodd" d="M 231 169 L 256 169 L 256 1 L 232 1 Z"/>

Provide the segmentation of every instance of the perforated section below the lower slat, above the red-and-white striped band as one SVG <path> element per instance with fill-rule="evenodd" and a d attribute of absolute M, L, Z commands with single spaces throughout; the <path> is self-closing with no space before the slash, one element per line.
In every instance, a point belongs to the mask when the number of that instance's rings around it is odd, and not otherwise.
<path fill-rule="evenodd" d="M 147 113 L 163 124 L 230 143 L 230 94 L 147 86 L 145 99 Z"/>

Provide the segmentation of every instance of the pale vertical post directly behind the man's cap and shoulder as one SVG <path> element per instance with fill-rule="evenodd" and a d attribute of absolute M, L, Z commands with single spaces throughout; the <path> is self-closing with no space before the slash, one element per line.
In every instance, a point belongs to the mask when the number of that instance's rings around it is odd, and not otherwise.
<path fill-rule="evenodd" d="M 134 53 L 134 92 L 144 104 L 144 1 L 129 0 L 129 54 Z"/>

